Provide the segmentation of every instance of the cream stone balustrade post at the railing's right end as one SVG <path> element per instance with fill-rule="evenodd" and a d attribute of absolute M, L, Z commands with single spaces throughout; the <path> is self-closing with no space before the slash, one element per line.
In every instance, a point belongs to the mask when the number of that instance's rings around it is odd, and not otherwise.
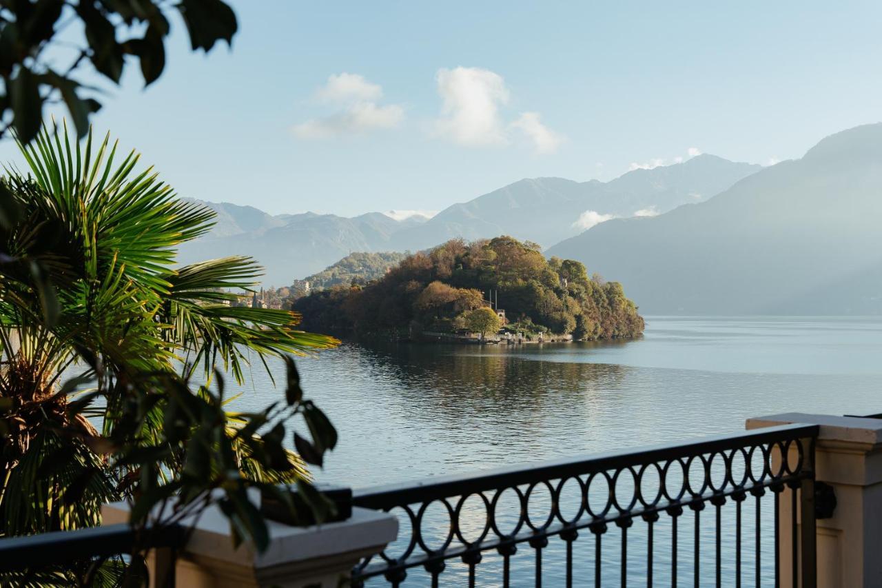
<path fill-rule="evenodd" d="M 882 419 L 789 412 L 749 418 L 747 428 L 793 423 L 820 426 L 815 479 L 836 499 L 833 516 L 816 520 L 818 588 L 882 586 Z M 791 496 L 781 494 L 781 562 L 792 554 Z M 781 585 L 793 585 L 789 565 L 781 566 Z"/>

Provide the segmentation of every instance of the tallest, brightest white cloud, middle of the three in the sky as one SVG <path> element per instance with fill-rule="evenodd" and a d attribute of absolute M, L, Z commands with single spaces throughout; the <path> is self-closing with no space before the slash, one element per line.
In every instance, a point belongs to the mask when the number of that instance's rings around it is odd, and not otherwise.
<path fill-rule="evenodd" d="M 462 145 L 505 144 L 505 125 L 499 107 L 509 100 L 505 80 L 480 67 L 438 70 L 441 118 L 435 123 L 438 135 Z"/>

